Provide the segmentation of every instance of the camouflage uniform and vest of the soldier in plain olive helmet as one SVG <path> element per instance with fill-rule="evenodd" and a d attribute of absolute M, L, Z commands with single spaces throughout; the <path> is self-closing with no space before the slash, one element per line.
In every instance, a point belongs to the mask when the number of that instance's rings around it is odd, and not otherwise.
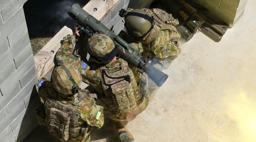
<path fill-rule="evenodd" d="M 119 35 L 128 43 L 133 43 L 140 49 L 142 55 L 151 55 L 155 59 L 151 63 L 159 70 L 167 69 L 172 61 L 180 54 L 179 39 L 180 34 L 175 26 L 179 24 L 177 19 L 173 19 L 172 14 L 168 14 L 161 9 L 142 9 L 147 11 L 154 19 L 154 28 L 144 37 L 135 37 L 132 34 L 126 35 L 122 31 Z M 127 12 L 132 11 L 128 9 Z M 124 22 L 123 18 L 123 22 Z"/>

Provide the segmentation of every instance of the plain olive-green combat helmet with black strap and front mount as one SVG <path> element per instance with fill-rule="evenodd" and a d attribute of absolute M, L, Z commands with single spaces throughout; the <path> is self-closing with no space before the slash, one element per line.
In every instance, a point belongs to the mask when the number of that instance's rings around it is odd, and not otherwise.
<path fill-rule="evenodd" d="M 154 19 L 142 9 L 133 9 L 128 12 L 122 9 L 119 15 L 124 17 L 126 28 L 134 36 L 143 37 L 154 28 Z"/>

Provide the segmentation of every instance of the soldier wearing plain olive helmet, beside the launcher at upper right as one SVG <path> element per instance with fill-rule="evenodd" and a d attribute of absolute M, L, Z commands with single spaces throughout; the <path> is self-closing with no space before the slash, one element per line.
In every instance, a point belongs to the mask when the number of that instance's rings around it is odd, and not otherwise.
<path fill-rule="evenodd" d="M 120 14 L 121 16 L 122 14 Z M 159 70 L 167 69 L 172 61 L 180 54 L 180 34 L 175 26 L 179 24 L 177 19 L 161 9 L 130 9 L 122 18 L 128 34 L 121 31 L 119 36 L 137 46 L 142 56 L 151 55 L 151 65 Z M 149 79 L 149 91 L 152 98 L 159 89 Z"/>

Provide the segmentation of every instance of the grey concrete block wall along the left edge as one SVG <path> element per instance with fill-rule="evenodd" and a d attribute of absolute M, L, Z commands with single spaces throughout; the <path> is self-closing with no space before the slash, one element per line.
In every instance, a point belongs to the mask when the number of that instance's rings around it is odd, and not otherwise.
<path fill-rule="evenodd" d="M 0 138 L 23 141 L 38 125 L 36 67 L 23 11 L 27 0 L 0 2 Z"/>

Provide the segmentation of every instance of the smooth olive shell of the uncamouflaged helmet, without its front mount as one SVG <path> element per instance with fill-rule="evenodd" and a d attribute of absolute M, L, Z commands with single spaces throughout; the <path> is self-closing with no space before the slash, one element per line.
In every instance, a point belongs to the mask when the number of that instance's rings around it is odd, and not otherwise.
<path fill-rule="evenodd" d="M 149 17 L 151 17 L 151 15 L 142 9 L 128 11 L 125 16 L 125 25 L 131 34 L 137 37 L 142 37 L 152 29 L 152 24 L 149 20 L 139 16 L 129 15 L 129 13 L 139 13 L 148 15 Z"/>

